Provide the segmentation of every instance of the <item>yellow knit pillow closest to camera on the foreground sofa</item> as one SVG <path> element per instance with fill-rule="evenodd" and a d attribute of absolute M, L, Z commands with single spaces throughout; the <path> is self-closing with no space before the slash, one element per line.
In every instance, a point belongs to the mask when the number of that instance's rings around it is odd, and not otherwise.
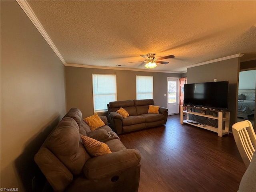
<path fill-rule="evenodd" d="M 112 153 L 107 144 L 97 141 L 96 139 L 88 136 L 81 136 L 84 147 L 90 153 L 91 156 L 100 156 L 108 153 Z"/>

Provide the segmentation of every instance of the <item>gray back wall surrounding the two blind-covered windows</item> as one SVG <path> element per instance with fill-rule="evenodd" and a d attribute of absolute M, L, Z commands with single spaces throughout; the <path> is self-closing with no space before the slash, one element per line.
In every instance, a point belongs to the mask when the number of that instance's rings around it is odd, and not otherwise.
<path fill-rule="evenodd" d="M 153 76 L 154 101 L 167 107 L 167 77 L 181 77 L 182 74 L 140 72 L 128 70 L 105 70 L 95 68 L 65 67 L 67 107 L 77 107 L 83 117 L 93 114 L 92 74 L 116 74 L 117 100 L 136 99 L 136 75 Z M 104 114 L 106 115 L 106 113 Z"/>

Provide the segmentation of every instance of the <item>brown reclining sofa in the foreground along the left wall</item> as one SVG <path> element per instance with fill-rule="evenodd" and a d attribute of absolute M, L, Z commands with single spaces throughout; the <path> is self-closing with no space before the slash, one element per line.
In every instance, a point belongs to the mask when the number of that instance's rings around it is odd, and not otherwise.
<path fill-rule="evenodd" d="M 107 124 L 107 118 L 101 118 Z M 54 191 L 138 191 L 140 154 L 137 150 L 126 149 L 114 132 L 109 137 L 111 132 L 108 125 L 90 131 L 81 111 L 70 109 L 34 157 Z M 112 153 L 90 156 L 81 134 L 104 142 Z"/>

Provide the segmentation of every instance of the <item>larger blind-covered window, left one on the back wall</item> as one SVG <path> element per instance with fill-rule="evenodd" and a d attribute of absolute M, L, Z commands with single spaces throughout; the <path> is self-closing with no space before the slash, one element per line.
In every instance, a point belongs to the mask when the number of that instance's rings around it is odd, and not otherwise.
<path fill-rule="evenodd" d="M 116 101 L 116 75 L 92 74 L 94 112 L 106 111 L 110 101 Z"/>

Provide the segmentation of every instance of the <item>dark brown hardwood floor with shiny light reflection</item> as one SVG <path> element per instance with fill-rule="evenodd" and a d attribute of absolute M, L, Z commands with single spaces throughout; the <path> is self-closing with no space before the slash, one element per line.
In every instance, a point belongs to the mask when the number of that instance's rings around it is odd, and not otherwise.
<path fill-rule="evenodd" d="M 236 192 L 246 170 L 232 134 L 180 124 L 180 115 L 119 137 L 141 154 L 138 192 Z"/>

